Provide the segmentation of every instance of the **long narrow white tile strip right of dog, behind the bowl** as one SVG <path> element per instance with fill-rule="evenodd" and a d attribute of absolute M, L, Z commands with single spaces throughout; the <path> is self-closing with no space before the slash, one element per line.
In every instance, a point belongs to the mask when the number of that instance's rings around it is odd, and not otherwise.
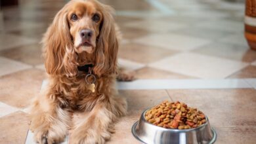
<path fill-rule="evenodd" d="M 117 87 L 119 90 L 252 88 L 243 79 L 137 80 L 118 82 Z"/>

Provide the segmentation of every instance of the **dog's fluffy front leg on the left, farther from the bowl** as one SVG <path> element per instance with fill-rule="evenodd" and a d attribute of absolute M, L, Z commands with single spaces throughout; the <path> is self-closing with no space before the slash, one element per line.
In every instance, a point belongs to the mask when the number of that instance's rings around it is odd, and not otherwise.
<path fill-rule="evenodd" d="M 63 101 L 62 101 L 63 102 Z M 70 127 L 70 114 L 55 94 L 37 97 L 32 105 L 30 129 L 38 143 L 60 143 Z"/>

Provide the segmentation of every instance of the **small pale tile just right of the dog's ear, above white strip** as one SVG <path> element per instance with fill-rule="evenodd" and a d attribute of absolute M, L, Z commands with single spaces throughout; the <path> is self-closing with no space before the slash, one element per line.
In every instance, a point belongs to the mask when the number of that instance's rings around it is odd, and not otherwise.
<path fill-rule="evenodd" d="M 140 69 L 145 66 L 142 63 L 125 60 L 122 58 L 118 58 L 118 65 L 119 65 L 119 67 L 127 69 L 128 71 L 134 71 L 136 69 Z"/>

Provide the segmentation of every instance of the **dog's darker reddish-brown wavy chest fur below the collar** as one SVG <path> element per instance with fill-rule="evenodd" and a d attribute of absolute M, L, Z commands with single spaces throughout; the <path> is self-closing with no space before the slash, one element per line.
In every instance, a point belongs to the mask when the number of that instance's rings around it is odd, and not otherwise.
<path fill-rule="evenodd" d="M 56 86 L 59 95 L 59 103 L 61 107 L 69 107 L 71 109 L 79 109 L 91 111 L 98 99 L 107 100 L 108 96 L 114 88 L 115 77 L 96 78 L 95 92 L 89 89 L 89 85 L 85 81 L 85 75 L 75 77 L 75 79 L 67 79 Z M 61 88 L 58 90 L 58 88 Z M 111 90 L 110 90 L 111 89 Z"/>

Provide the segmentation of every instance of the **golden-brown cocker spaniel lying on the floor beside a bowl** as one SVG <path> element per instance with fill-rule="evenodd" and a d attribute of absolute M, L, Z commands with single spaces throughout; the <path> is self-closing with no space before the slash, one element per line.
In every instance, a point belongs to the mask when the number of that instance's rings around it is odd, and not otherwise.
<path fill-rule="evenodd" d="M 89 114 L 74 128 L 72 143 L 105 143 L 127 112 L 115 88 L 119 39 L 113 12 L 96 0 L 72 0 L 48 27 L 42 43 L 49 83 L 30 113 L 38 143 L 62 142 L 75 110 Z"/>

